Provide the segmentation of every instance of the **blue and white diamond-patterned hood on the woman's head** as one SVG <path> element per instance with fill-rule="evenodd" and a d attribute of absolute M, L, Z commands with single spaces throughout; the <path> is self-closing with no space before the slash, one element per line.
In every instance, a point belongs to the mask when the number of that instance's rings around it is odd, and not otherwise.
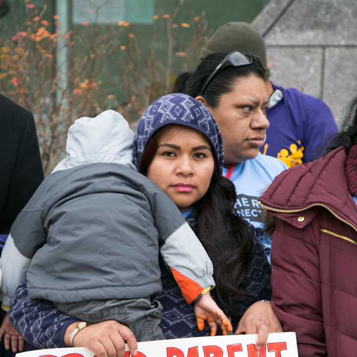
<path fill-rule="evenodd" d="M 168 94 L 157 99 L 142 115 L 133 143 L 136 169 L 139 167 L 144 148 L 152 135 L 168 124 L 188 126 L 205 135 L 216 152 L 219 170 L 222 174 L 223 142 L 216 120 L 203 104 L 181 93 Z"/>

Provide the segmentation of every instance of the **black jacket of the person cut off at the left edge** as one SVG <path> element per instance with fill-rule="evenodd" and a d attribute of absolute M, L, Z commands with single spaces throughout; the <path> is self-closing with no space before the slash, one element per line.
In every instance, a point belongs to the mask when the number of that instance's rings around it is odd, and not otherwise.
<path fill-rule="evenodd" d="M 0 234 L 44 179 L 33 115 L 0 95 Z"/>

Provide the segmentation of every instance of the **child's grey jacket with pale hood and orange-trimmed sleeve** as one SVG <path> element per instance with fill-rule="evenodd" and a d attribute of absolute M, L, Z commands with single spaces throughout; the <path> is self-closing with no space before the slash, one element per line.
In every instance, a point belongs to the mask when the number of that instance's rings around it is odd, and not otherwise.
<path fill-rule="evenodd" d="M 133 170 L 133 132 L 115 111 L 80 118 L 67 157 L 11 228 L 0 259 L 2 301 L 27 272 L 29 297 L 57 302 L 161 291 L 159 249 L 191 303 L 213 266 L 172 200 Z"/>

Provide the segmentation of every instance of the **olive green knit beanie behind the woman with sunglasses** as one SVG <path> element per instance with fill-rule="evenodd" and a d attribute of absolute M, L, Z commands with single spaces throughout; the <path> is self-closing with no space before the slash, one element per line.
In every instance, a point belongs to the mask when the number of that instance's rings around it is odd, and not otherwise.
<path fill-rule="evenodd" d="M 259 31 L 247 22 L 229 22 L 221 26 L 202 47 L 199 59 L 204 60 L 215 52 L 232 52 L 245 50 L 254 52 L 265 68 L 264 80 L 268 80 L 270 71 L 267 67 L 266 50 L 263 37 Z"/>

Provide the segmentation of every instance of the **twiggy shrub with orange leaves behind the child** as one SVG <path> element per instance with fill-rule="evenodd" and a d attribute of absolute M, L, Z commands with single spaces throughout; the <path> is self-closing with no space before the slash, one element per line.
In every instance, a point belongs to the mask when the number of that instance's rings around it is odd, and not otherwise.
<path fill-rule="evenodd" d="M 134 32 L 135 27 L 128 33 L 130 23 L 125 20 L 106 30 L 111 33 L 102 32 L 98 26 L 90 41 L 81 37 L 87 31 L 70 31 L 63 36 L 68 41 L 60 42 L 59 46 L 60 29 L 52 33 L 50 26 L 51 22 L 60 25 L 59 16 L 47 20 L 44 15 L 48 12 L 45 5 L 41 8 L 41 1 L 36 6 L 31 0 L 25 1 L 27 9 L 36 8 L 36 12 L 28 11 L 17 33 L 11 39 L 2 39 L 0 93 L 34 114 L 45 174 L 63 157 L 66 132 L 74 119 L 95 115 L 108 106 L 129 121 L 137 119 L 149 103 L 170 91 L 174 71 L 193 66 L 206 39 L 207 26 L 202 15 L 193 18 L 195 25 L 188 31 L 190 39 L 185 43 L 177 41 L 177 29 L 189 28 L 192 19 L 178 22 L 175 10 L 173 14 L 152 16 L 153 39 L 162 31 L 160 19 L 169 20 L 166 31 L 169 46 L 165 49 L 168 61 L 161 60 L 155 48 L 149 55 L 142 51 L 139 44 L 143 39 Z M 91 24 L 82 22 L 84 27 Z M 79 54 L 76 44 L 86 51 Z M 60 61 L 54 60 L 63 50 L 69 61 L 65 76 L 58 65 Z M 113 77 L 108 61 L 117 66 L 115 81 L 108 81 Z"/>

